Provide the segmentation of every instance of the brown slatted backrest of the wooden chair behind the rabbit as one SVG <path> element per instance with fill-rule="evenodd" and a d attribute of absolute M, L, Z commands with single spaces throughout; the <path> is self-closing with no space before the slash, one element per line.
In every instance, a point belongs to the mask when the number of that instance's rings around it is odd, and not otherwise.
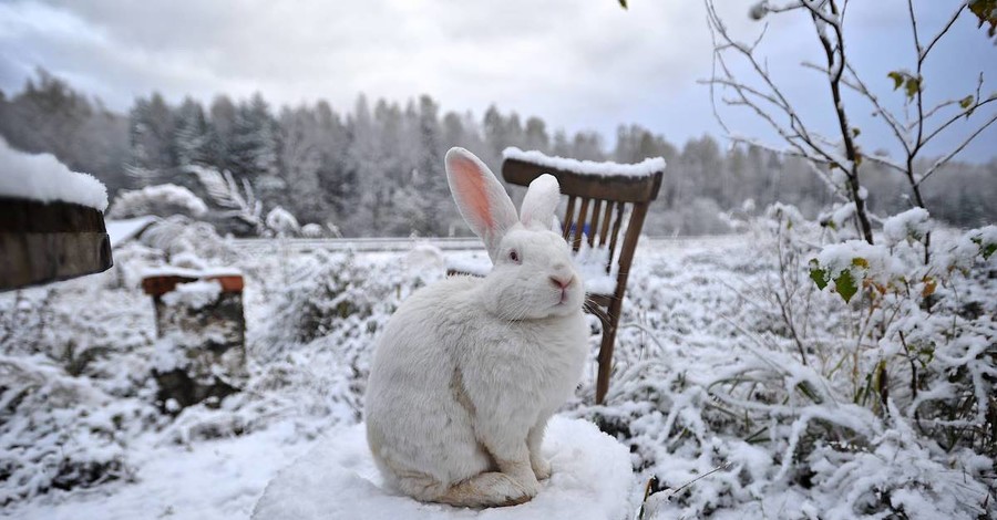
<path fill-rule="evenodd" d="M 647 208 L 658 197 L 665 173 L 590 175 L 512 157 L 502 163 L 502 176 L 510 184 L 528 186 L 543 174 L 556 177 L 562 195 L 568 197 L 562 232 L 573 249 L 577 251 L 586 237 L 590 247 L 608 243 L 606 272 L 611 272 L 615 261 L 619 269 L 614 295 L 621 298 Z M 620 229 L 625 229 L 621 242 Z"/>

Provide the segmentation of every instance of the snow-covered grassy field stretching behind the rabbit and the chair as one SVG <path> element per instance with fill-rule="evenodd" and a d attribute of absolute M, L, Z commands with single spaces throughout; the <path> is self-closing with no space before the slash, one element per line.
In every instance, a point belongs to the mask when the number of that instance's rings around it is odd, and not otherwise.
<path fill-rule="evenodd" d="M 759 233 L 643 242 L 605 406 L 592 404 L 592 318 L 589 366 L 563 415 L 629 448 L 630 514 L 651 476 L 660 492 L 644 518 L 993 514 L 993 459 L 840 398 L 816 375 L 834 374 L 837 357 L 796 361 L 764 292 L 778 277 L 772 251 Z M 378 331 L 462 254 L 473 252 L 247 249 L 166 222 L 116 249 L 106 273 L 0 294 L 0 514 L 248 518 L 278 470 L 361 420 Z M 167 260 L 246 277 L 246 387 L 175 417 L 153 404 L 153 306 L 138 287 Z M 995 314 L 995 285 L 966 291 L 984 315 Z M 814 292 L 814 337 L 846 326 L 835 299 Z"/>

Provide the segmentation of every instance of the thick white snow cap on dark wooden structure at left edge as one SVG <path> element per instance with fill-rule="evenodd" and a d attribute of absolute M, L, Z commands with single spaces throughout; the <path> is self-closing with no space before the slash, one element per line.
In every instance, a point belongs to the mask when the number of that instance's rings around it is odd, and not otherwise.
<path fill-rule="evenodd" d="M 88 174 L 71 171 L 52 154 L 27 154 L 0 137 L 0 197 L 61 200 L 107 209 L 107 189 Z"/>

